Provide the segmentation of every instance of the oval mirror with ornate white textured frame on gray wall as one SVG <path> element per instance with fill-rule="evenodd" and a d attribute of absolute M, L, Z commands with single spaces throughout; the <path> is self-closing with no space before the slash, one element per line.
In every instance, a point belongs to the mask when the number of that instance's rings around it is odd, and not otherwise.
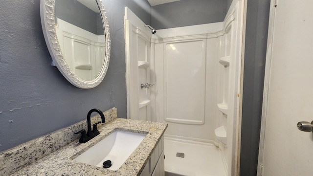
<path fill-rule="evenodd" d="M 101 0 L 41 0 L 41 22 L 53 64 L 78 88 L 94 88 L 110 61 L 110 30 Z"/>

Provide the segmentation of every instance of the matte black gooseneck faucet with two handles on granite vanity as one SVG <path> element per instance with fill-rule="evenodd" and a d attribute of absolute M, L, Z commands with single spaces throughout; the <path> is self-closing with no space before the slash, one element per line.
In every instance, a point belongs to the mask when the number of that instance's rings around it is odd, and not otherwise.
<path fill-rule="evenodd" d="M 95 136 L 97 136 L 98 134 L 100 134 L 100 132 L 97 129 L 97 124 L 99 124 L 101 122 L 97 122 L 97 123 L 93 124 L 93 130 L 91 131 L 90 115 L 92 112 L 98 112 L 98 114 L 100 114 L 100 116 L 101 116 L 102 123 L 106 122 L 106 119 L 104 118 L 104 114 L 101 110 L 98 110 L 98 109 L 89 110 L 89 112 L 87 114 L 87 126 L 88 126 L 87 134 L 86 134 L 85 130 L 81 130 L 81 131 L 75 133 L 75 134 L 82 133 L 82 135 L 79 139 L 79 143 L 85 143 L 85 142 L 89 141 L 90 139 L 94 138 Z"/>

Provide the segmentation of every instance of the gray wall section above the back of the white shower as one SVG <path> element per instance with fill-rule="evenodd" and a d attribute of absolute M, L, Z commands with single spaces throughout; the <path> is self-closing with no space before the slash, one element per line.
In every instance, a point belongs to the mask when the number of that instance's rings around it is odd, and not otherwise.
<path fill-rule="evenodd" d="M 151 25 L 156 29 L 223 22 L 226 0 L 180 0 L 151 9 Z"/>

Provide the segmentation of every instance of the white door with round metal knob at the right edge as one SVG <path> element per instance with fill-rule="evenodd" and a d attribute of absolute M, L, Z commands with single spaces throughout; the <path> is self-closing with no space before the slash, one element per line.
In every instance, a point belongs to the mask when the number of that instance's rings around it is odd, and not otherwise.
<path fill-rule="evenodd" d="M 313 176 L 313 133 L 297 128 L 313 120 L 312 7 L 313 0 L 278 0 L 272 9 L 263 176 Z"/>

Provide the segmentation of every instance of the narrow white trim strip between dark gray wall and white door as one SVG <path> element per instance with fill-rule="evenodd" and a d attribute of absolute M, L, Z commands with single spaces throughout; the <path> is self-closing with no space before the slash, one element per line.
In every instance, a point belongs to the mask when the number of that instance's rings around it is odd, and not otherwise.
<path fill-rule="evenodd" d="M 267 110 L 268 110 L 268 88 L 269 88 L 269 80 L 270 80 L 270 67 L 271 67 L 271 59 L 272 59 L 271 52 L 272 52 L 272 42 L 273 42 L 275 12 L 276 12 L 276 7 L 274 7 L 275 1 L 276 0 L 270 0 L 270 9 L 269 9 L 268 44 L 267 44 L 267 54 L 266 54 L 266 64 L 265 64 L 257 176 L 263 175 L 262 174 L 263 167 L 261 166 L 263 166 L 265 129 L 266 129 L 266 119 L 267 119 Z"/>

